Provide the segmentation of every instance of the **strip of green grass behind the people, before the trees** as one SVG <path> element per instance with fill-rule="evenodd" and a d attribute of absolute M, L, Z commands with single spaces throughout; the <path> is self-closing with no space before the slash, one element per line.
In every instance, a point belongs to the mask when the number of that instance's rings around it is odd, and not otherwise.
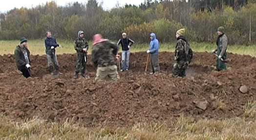
<path fill-rule="evenodd" d="M 73 46 L 73 40 L 57 40 L 61 48 L 57 48 L 57 54 L 73 54 L 76 53 Z M 92 48 L 92 41 L 89 41 L 89 53 Z M 160 43 L 159 51 L 160 52 L 173 52 L 175 48 L 175 43 Z M 15 47 L 19 44 L 19 40 L 0 40 L 0 55 L 3 54 L 13 54 Z M 191 48 L 194 52 L 211 52 L 216 48 L 214 43 L 196 43 L 190 42 Z M 28 48 L 32 55 L 44 55 L 45 47 L 44 40 L 28 40 Z M 131 52 L 144 52 L 149 48 L 149 43 L 135 43 L 131 46 Z M 121 52 L 121 47 L 119 52 Z M 229 45 L 228 52 L 232 52 L 240 55 L 250 55 L 256 56 L 256 44 L 250 46 L 242 46 L 242 45 Z"/>

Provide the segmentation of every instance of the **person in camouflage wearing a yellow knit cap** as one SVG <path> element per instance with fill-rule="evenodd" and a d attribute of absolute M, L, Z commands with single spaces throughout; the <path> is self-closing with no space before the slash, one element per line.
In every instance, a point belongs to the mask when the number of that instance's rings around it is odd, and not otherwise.
<path fill-rule="evenodd" d="M 177 44 L 172 66 L 173 77 L 185 77 L 186 69 L 192 60 L 193 52 L 189 46 L 188 40 L 184 37 L 185 29 L 176 32 Z"/>

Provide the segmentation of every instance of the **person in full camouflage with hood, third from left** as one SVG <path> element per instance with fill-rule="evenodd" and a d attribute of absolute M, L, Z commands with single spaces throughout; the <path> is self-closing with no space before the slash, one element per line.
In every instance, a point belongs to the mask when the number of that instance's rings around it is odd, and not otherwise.
<path fill-rule="evenodd" d="M 81 75 L 85 78 L 85 68 L 86 68 L 86 62 L 87 62 L 87 50 L 88 50 L 88 43 L 84 38 L 84 32 L 79 31 L 78 32 L 78 38 L 74 40 L 74 48 L 77 52 L 77 63 L 76 63 L 76 74 L 74 76 L 74 79 L 78 78 L 78 74 L 81 68 Z"/>

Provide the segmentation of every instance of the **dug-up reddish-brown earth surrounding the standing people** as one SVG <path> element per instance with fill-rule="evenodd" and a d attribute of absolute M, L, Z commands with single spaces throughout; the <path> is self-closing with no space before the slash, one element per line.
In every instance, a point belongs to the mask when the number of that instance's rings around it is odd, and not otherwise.
<path fill-rule="evenodd" d="M 73 79 L 76 55 L 58 55 L 64 75 L 48 74 L 44 56 L 31 56 L 33 78 L 16 70 L 13 55 L 0 56 L 0 114 L 15 121 L 34 116 L 54 122 L 80 120 L 86 127 L 131 126 L 138 122 L 171 124 L 180 116 L 198 119 L 241 117 L 256 100 L 256 58 L 229 53 L 228 71 L 215 71 L 215 58 L 195 53 L 186 78 L 171 77 L 173 53 L 159 56 L 161 73 L 145 74 L 146 53 L 131 53 L 130 70 L 117 81 Z M 150 68 L 149 68 L 150 72 Z M 248 91 L 239 91 L 245 85 Z"/>

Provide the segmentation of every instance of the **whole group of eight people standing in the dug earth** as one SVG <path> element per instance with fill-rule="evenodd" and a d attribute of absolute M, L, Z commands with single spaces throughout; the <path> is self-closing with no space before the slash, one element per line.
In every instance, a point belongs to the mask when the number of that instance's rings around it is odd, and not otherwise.
<path fill-rule="evenodd" d="M 172 65 L 172 76 L 173 77 L 185 77 L 186 69 L 192 61 L 193 52 L 189 45 L 188 40 L 184 36 L 185 29 L 179 29 L 176 32 L 177 43 L 175 46 L 174 60 Z M 217 48 L 212 51 L 215 53 L 217 51 L 216 69 L 217 71 L 226 70 L 226 64 L 223 60 L 227 59 L 227 37 L 224 34 L 224 27 L 220 26 L 217 29 L 218 39 L 216 41 Z M 149 49 L 146 51 L 150 55 L 150 64 L 152 72 L 149 74 L 160 73 L 160 66 L 158 62 L 159 53 L 159 41 L 156 39 L 156 35 L 151 33 L 150 36 Z M 92 53 L 91 62 L 97 67 L 95 80 L 103 81 L 107 78 L 109 80 L 119 79 L 117 72 L 116 60 L 120 59 L 118 55 L 118 45 L 122 46 L 122 60 L 120 71 L 128 71 L 129 69 L 129 55 L 130 47 L 134 43 L 133 40 L 127 38 L 127 34 L 123 33 L 122 38 L 118 40 L 117 43 L 113 43 L 107 39 L 103 39 L 101 34 L 96 34 L 93 36 L 92 43 Z M 46 32 L 46 38 L 44 40 L 45 53 L 47 58 L 47 65 L 51 75 L 62 75 L 63 73 L 59 70 L 59 64 L 56 56 L 56 47 L 61 47 L 56 42 L 56 39 L 51 37 L 51 32 Z M 80 30 L 78 32 L 78 37 L 74 40 L 74 49 L 77 52 L 77 62 L 75 68 L 74 79 L 78 78 L 79 72 L 81 76 L 86 78 L 85 69 L 87 63 L 87 51 L 88 43 L 84 38 L 84 32 Z M 21 71 L 25 78 L 31 77 L 30 72 L 30 52 L 27 49 L 27 40 L 22 37 L 20 39 L 20 44 L 17 45 L 15 49 L 15 61 L 18 70 Z M 52 66 L 52 62 L 54 67 Z M 54 72 L 56 74 L 54 74 Z"/>

